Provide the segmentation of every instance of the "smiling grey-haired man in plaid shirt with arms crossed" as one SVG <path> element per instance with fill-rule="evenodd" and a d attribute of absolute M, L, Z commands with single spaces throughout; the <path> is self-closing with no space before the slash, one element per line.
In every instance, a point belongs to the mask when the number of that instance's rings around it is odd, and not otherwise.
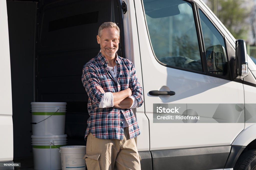
<path fill-rule="evenodd" d="M 141 169 L 134 140 L 140 129 L 131 108 L 142 105 L 142 87 L 133 63 L 116 54 L 119 38 L 115 23 L 103 23 L 97 35 L 101 50 L 83 67 L 90 115 L 84 156 L 88 170 Z"/>

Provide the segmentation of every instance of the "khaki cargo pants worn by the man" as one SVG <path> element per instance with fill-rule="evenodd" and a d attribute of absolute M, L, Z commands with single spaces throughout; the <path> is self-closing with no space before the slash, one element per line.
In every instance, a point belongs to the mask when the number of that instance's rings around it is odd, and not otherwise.
<path fill-rule="evenodd" d="M 129 128 L 124 128 L 124 139 L 98 139 L 88 134 L 84 159 L 88 170 L 140 170 L 140 155 L 134 139 L 129 139 Z M 127 140 L 129 139 L 129 140 Z"/>

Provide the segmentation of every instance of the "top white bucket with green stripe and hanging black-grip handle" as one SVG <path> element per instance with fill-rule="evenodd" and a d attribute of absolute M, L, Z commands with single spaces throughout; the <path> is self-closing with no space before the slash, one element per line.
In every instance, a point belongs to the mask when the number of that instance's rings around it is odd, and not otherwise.
<path fill-rule="evenodd" d="M 31 102 L 33 135 L 63 135 L 66 102 Z"/>

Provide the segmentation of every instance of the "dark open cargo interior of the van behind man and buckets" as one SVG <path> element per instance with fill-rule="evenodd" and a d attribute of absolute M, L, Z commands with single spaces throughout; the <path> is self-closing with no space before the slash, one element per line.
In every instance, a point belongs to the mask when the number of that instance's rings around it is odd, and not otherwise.
<path fill-rule="evenodd" d="M 83 65 L 100 46 L 103 22 L 120 23 L 118 0 L 7 1 L 14 159 L 31 156 L 30 102 L 67 102 L 68 145 L 86 145 L 88 96 Z M 118 54 L 121 56 L 121 44 Z"/>

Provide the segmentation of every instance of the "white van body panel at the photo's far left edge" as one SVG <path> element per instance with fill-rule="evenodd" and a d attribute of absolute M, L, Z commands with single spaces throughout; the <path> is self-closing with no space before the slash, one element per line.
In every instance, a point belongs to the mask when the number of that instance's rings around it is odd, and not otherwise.
<path fill-rule="evenodd" d="M 0 25 L 0 161 L 12 161 L 12 86 L 6 1 L 0 1 Z"/>

